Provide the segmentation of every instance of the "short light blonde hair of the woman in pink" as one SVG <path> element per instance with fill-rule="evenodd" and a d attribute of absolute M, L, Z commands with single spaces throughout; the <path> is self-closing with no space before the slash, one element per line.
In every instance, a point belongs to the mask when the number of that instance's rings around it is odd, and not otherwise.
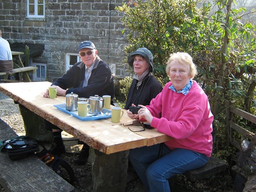
<path fill-rule="evenodd" d="M 177 52 L 177 53 L 173 53 L 168 59 L 167 66 L 166 66 L 166 73 L 168 76 L 170 76 L 171 62 L 173 61 L 178 61 L 180 64 L 188 65 L 191 79 L 193 79 L 194 76 L 197 74 L 196 66 L 193 62 L 192 57 L 187 53 Z"/>

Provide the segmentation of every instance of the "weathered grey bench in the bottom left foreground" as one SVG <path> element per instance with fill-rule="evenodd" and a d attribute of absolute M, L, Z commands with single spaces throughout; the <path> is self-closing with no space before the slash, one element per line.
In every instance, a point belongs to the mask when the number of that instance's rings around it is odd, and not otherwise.
<path fill-rule="evenodd" d="M 0 140 L 17 136 L 14 130 L 0 119 Z M 74 186 L 35 156 L 12 161 L 5 152 L 0 152 L 0 162 L 0 185 L 8 192 L 75 191 Z"/>

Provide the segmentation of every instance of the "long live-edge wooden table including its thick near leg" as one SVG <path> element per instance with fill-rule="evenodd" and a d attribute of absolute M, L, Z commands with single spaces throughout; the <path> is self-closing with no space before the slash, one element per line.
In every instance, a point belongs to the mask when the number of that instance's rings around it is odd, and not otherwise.
<path fill-rule="evenodd" d="M 128 126 L 123 126 L 123 123 L 130 123 L 132 120 L 126 112 L 120 123 L 112 123 L 111 118 L 81 121 L 72 117 L 54 107 L 55 104 L 65 103 L 65 96 L 57 96 L 54 99 L 43 97 L 50 85 L 51 82 L 1 83 L 0 91 L 19 103 L 20 107 L 24 106 L 36 116 L 90 145 L 94 192 L 125 192 L 129 150 L 171 139 L 156 129 L 141 132 L 128 130 Z M 33 116 L 23 120 L 24 124 L 28 125 L 33 122 Z M 138 130 L 138 126 L 129 127 Z M 33 130 L 26 130 L 26 135 L 28 131 Z"/>

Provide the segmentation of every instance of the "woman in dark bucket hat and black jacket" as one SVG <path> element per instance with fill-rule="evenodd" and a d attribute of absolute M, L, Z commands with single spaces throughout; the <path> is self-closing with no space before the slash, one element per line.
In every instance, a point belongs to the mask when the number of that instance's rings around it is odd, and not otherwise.
<path fill-rule="evenodd" d="M 161 91 L 162 85 L 153 76 L 153 55 L 147 48 L 138 48 L 128 55 L 128 63 L 133 68 L 134 75 L 128 91 L 125 109 L 130 106 L 148 105 Z M 130 118 L 135 114 L 127 111 Z"/>

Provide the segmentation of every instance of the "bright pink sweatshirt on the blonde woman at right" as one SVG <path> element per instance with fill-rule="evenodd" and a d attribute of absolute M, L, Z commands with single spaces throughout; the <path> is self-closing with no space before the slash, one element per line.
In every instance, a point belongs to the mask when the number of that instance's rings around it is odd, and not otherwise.
<path fill-rule="evenodd" d="M 186 96 L 169 89 L 171 85 L 172 82 L 166 83 L 146 106 L 153 116 L 151 126 L 173 137 L 165 142 L 170 149 L 189 149 L 210 157 L 213 115 L 208 97 L 195 81 Z"/>

